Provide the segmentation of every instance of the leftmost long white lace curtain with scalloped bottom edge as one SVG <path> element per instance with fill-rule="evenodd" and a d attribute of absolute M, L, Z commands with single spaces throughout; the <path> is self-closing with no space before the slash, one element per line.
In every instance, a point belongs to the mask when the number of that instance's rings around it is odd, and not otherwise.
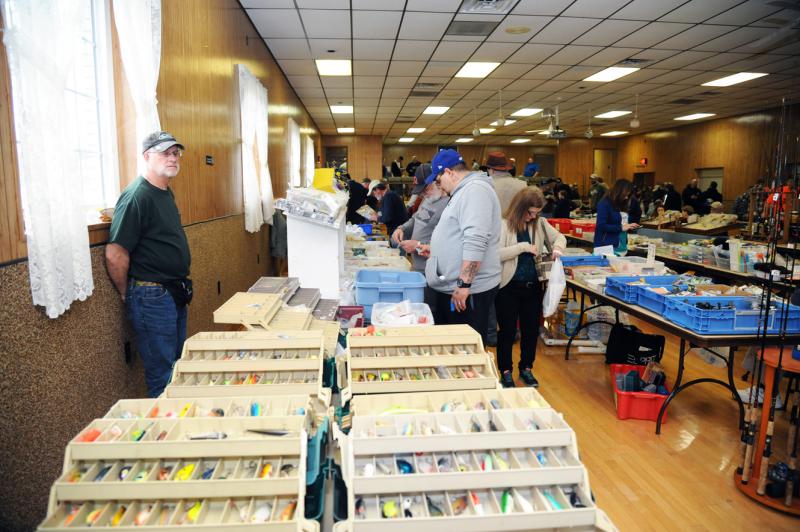
<path fill-rule="evenodd" d="M 22 213 L 33 303 L 50 318 L 94 290 L 65 88 L 88 0 L 0 0 L 5 20 Z"/>

